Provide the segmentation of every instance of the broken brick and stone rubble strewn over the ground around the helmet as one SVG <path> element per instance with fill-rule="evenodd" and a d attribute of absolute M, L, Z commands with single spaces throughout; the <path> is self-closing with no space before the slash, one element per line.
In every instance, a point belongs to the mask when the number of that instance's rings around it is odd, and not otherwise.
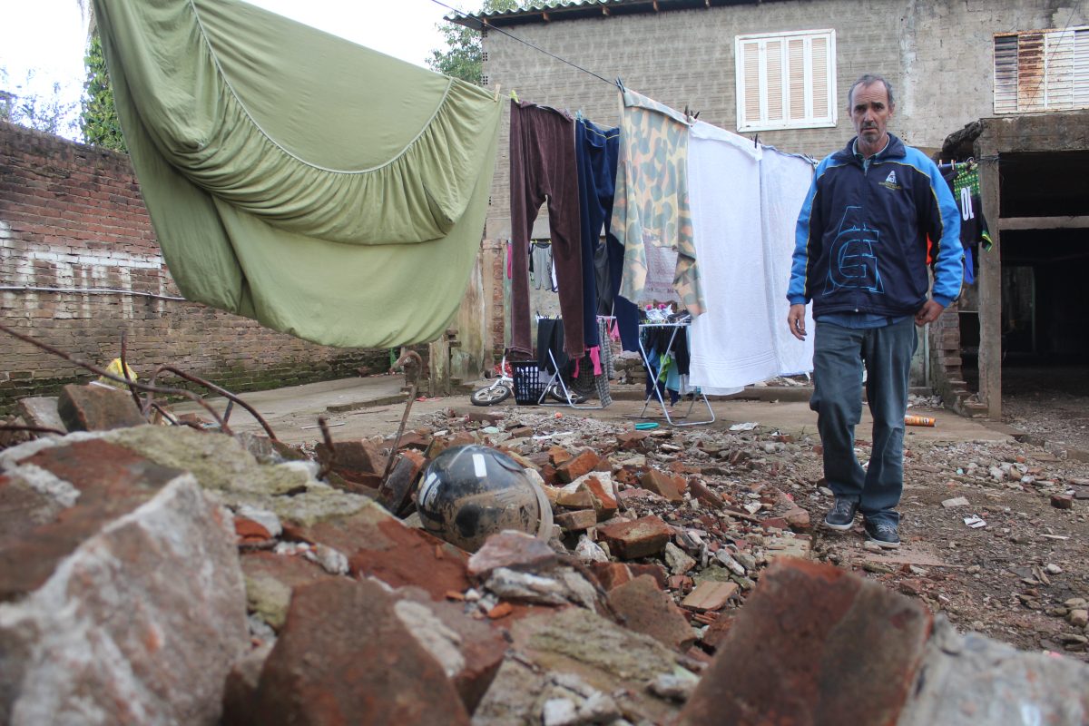
<path fill-rule="evenodd" d="M 908 439 L 889 552 L 818 526 L 819 443 L 767 427 L 450 408 L 383 479 L 390 438 L 114 428 L 127 394 L 78 393 L 70 429 L 114 430 L 0 450 L 3 723 L 1089 717 L 1089 465 L 1038 446 Z M 414 526 L 426 462 L 468 443 L 535 472 L 550 542 L 470 555 Z"/>

